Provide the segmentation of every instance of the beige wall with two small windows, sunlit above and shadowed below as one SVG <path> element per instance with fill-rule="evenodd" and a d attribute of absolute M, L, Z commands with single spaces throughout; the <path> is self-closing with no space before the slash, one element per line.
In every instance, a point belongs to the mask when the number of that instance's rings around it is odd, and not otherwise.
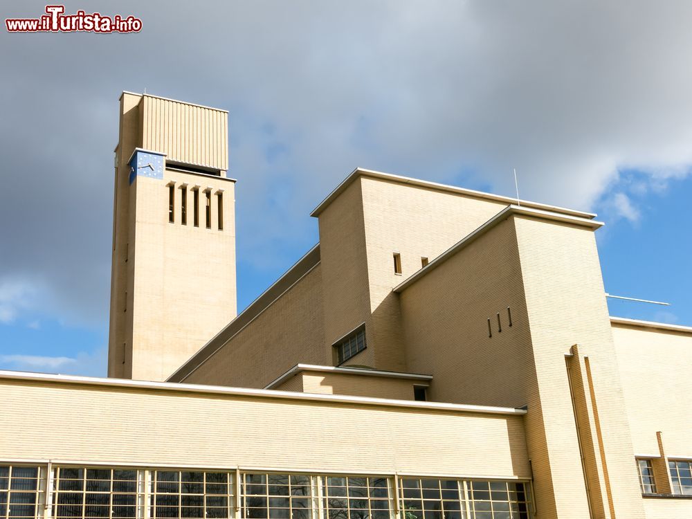
<path fill-rule="evenodd" d="M 421 257 L 432 261 L 506 204 L 368 176 L 359 181 L 372 312 L 367 321 L 368 344 L 374 350 L 372 366 L 404 371 L 399 301 L 392 289 L 420 270 Z M 394 273 L 394 253 L 401 254 L 401 275 Z"/>

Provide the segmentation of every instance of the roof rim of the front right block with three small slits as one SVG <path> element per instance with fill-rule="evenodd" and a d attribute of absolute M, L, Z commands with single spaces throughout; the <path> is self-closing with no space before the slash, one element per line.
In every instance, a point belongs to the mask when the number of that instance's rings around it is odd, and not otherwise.
<path fill-rule="evenodd" d="M 592 230 L 596 230 L 597 228 L 604 225 L 602 221 L 592 220 L 588 218 L 561 215 L 557 212 L 552 211 L 544 211 L 534 208 L 527 208 L 524 206 L 510 205 L 498 212 L 497 215 L 493 216 L 480 227 L 473 230 L 473 232 L 460 239 L 459 242 L 455 243 L 453 246 L 448 248 L 446 251 L 444 251 L 444 253 L 441 253 L 441 255 L 435 258 L 435 260 L 432 260 L 432 262 L 428 263 L 426 266 L 421 268 L 419 271 L 417 271 L 417 273 L 411 275 L 406 280 L 395 286 L 394 292 L 401 292 L 405 290 L 406 288 L 408 288 L 408 286 L 414 284 L 421 277 L 435 270 L 435 268 L 446 262 L 446 260 L 448 260 L 450 257 L 455 255 L 457 252 L 461 251 L 462 248 L 466 247 L 468 244 L 471 244 L 471 242 L 473 242 L 477 237 L 484 235 L 484 233 L 491 230 L 491 228 L 495 227 L 504 219 L 507 219 L 507 217 L 509 217 L 510 215 L 522 215 L 541 219 L 548 219 L 562 222 L 564 224 L 582 226 L 590 228 Z"/>

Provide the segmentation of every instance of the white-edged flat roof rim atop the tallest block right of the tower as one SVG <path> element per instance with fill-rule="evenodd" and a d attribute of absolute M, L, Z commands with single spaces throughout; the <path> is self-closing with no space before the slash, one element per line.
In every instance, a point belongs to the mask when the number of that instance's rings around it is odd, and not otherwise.
<path fill-rule="evenodd" d="M 534 208 L 534 209 L 542 209 L 542 210 L 549 210 L 553 212 L 559 212 L 563 213 L 565 215 L 572 215 L 580 218 L 588 218 L 592 219 L 597 217 L 597 215 L 593 212 L 583 212 L 583 211 L 577 211 L 574 209 L 567 209 L 559 206 L 550 206 L 545 203 L 538 203 L 538 202 L 532 202 L 529 200 L 518 200 L 516 198 L 511 198 L 511 197 L 503 197 L 499 194 L 492 194 L 492 193 L 486 193 L 482 191 L 476 191 L 472 189 L 466 189 L 466 188 L 457 188 L 454 185 L 447 185 L 447 184 L 440 184 L 437 182 L 429 182 L 429 181 L 424 181 L 424 180 L 419 180 L 419 179 L 412 179 L 408 176 L 400 176 L 400 175 L 395 175 L 391 173 L 383 173 L 379 171 L 374 171 L 374 170 L 366 170 L 363 167 L 356 167 L 355 170 L 349 174 L 339 185 L 336 186 L 334 191 L 329 193 L 327 195 L 327 198 L 322 200 L 320 202 L 320 205 L 318 205 L 313 212 L 310 213 L 310 216 L 316 217 L 320 215 L 320 212 L 324 210 L 329 204 L 336 199 L 336 197 L 339 196 L 345 190 L 350 183 L 352 183 L 355 179 L 357 179 L 359 176 L 367 176 L 372 179 L 382 179 L 386 181 L 392 181 L 392 182 L 398 182 L 398 183 L 404 183 L 404 184 L 409 184 L 409 185 L 416 185 L 421 188 L 428 188 L 428 189 L 434 189 L 438 191 L 446 191 L 450 193 L 456 193 L 456 194 L 464 194 L 468 197 L 474 197 L 474 198 L 481 198 L 481 199 L 486 199 L 486 200 L 493 200 L 497 202 L 503 202 L 503 203 L 508 203 L 508 204 L 517 204 L 521 206 L 527 206 L 529 208 Z"/>

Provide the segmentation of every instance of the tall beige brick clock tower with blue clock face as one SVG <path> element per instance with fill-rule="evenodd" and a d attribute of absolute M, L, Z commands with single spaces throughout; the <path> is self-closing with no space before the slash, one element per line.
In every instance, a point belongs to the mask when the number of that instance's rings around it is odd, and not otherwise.
<path fill-rule="evenodd" d="M 163 381 L 235 318 L 227 172 L 226 111 L 122 93 L 108 376 Z"/>

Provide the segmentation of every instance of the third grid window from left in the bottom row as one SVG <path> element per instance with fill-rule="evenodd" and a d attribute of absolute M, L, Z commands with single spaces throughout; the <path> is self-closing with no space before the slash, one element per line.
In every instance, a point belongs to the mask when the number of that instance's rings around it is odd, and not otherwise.
<path fill-rule="evenodd" d="M 226 472 L 152 471 L 151 517 L 228 518 L 233 476 Z"/>

